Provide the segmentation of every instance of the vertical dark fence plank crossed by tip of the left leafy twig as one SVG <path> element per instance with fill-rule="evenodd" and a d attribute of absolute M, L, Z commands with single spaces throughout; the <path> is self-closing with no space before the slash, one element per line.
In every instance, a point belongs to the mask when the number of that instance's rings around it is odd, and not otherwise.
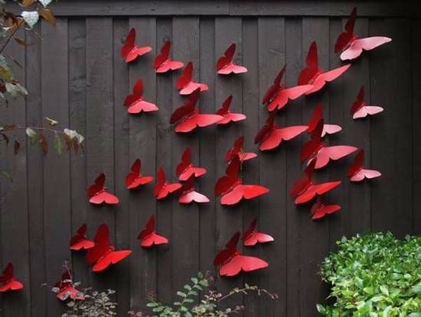
<path fill-rule="evenodd" d="M 84 19 L 69 20 L 69 126 L 81 135 L 86 135 L 86 25 Z M 70 165 L 72 198 L 72 231 L 86 223 L 86 155 L 72 154 Z M 95 228 L 88 228 L 88 237 L 93 238 Z M 73 252 L 72 269 L 74 281 L 88 287 L 89 269 L 85 252 Z"/>

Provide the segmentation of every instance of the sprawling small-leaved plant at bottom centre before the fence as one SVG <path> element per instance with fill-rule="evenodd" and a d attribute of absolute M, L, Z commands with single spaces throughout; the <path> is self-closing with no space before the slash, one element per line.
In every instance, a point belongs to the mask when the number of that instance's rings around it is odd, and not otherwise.
<path fill-rule="evenodd" d="M 209 274 L 203 276 L 200 272 L 196 277 L 192 277 L 191 281 L 192 283 L 184 285 L 183 290 L 177 292 L 180 300 L 173 302 L 173 304 L 162 304 L 153 295 L 149 295 L 149 303 L 146 306 L 152 309 L 152 317 L 226 317 L 239 313 L 244 309 L 244 306 L 222 308 L 223 302 L 234 295 L 248 295 L 250 292 L 255 292 L 259 296 L 267 295 L 271 299 L 278 299 L 278 295 L 248 284 L 244 285 L 243 288 L 234 288 L 226 295 L 222 295 L 220 292 L 210 289 L 209 282 L 213 281 L 212 276 Z M 203 295 L 200 296 L 200 292 Z M 133 317 L 148 317 L 135 311 L 129 311 L 128 314 Z"/>

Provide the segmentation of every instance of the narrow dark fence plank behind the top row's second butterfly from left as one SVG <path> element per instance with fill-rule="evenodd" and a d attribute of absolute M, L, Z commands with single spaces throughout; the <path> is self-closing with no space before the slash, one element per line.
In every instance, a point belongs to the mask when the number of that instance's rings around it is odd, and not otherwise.
<path fill-rule="evenodd" d="M 173 42 L 173 24 L 171 18 L 156 20 L 156 46 L 167 40 Z M 174 52 L 172 52 L 174 54 Z M 172 55 L 174 56 L 174 55 Z M 169 72 L 156 76 L 156 104 L 159 113 L 156 122 L 156 168 L 165 170 L 168 180 L 175 180 L 173 166 L 173 130 L 170 125 L 170 116 L 173 113 L 174 79 L 178 72 Z M 156 202 L 156 229 L 169 239 L 168 245 L 156 248 L 156 292 L 162 302 L 169 302 L 173 297 L 173 259 L 172 246 L 175 241 L 173 236 L 173 208 L 171 198 Z"/>

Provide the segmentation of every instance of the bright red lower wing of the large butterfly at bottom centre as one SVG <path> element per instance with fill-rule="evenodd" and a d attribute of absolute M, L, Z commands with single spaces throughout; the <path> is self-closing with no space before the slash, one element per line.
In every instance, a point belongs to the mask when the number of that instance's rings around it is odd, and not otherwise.
<path fill-rule="evenodd" d="M 248 257 L 246 255 L 234 255 L 232 259 L 222 264 L 219 269 L 220 276 L 235 276 L 241 271 L 250 272 L 269 267 L 269 263 L 258 257 Z"/>

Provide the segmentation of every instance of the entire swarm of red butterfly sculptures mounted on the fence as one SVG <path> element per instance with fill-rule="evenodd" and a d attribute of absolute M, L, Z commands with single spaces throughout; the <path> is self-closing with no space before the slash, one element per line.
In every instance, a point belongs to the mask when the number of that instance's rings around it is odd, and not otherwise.
<path fill-rule="evenodd" d="M 356 8 L 347 20 L 345 30 L 338 36 L 335 43 L 335 53 L 340 53 L 341 60 L 353 60 L 358 58 L 363 50 L 372 50 L 377 46 L 392 41 L 384 36 L 371 36 L 368 38 L 359 38 L 354 34 L 354 24 L 356 20 Z M 138 46 L 135 44 L 135 29 L 131 29 L 126 37 L 126 43 L 121 49 L 121 55 L 126 62 L 132 62 L 138 57 L 152 51 L 149 46 Z M 175 61 L 170 58 L 171 42 L 166 41 L 161 48 L 161 53 L 154 60 L 156 73 L 165 73 L 171 70 L 184 67 L 183 62 Z M 216 70 L 218 74 L 241 74 L 247 72 L 247 68 L 236 65 L 233 62 L 236 45 L 233 43 L 225 54 L 218 59 Z M 267 151 L 279 147 L 282 142 L 292 140 L 302 133 L 309 133 L 310 139 L 305 142 L 300 152 L 301 161 L 306 161 L 307 166 L 302 176 L 295 181 L 290 195 L 295 198 L 295 204 L 308 203 L 316 198 L 316 201 L 310 208 L 310 215 L 313 220 L 340 210 L 340 205 L 324 204 L 323 195 L 338 187 L 341 181 L 316 182 L 312 175 L 314 170 L 328 165 L 330 160 L 336 161 L 345 156 L 358 151 L 356 147 L 347 145 L 328 146 L 323 142 L 325 135 L 338 133 L 342 128 L 338 125 L 327 124 L 323 121 L 322 107 L 317 105 L 314 114 L 307 125 L 279 127 L 275 123 L 276 112 L 286 107 L 288 100 L 295 100 L 302 95 L 309 95 L 321 90 L 327 82 L 333 81 L 349 69 L 351 65 L 323 71 L 319 68 L 317 57 L 316 42 L 309 47 L 306 58 L 306 67 L 302 69 L 298 76 L 298 86 L 287 88 L 281 83 L 286 67 L 284 66 L 274 79 L 272 86 L 269 87 L 262 99 L 262 104 L 267 107 L 269 117 L 265 125 L 258 131 L 255 137 L 255 144 L 259 144 L 261 151 Z M 188 133 L 197 127 L 206 127 L 213 124 L 223 125 L 230 122 L 236 122 L 246 119 L 244 114 L 230 112 L 229 107 L 232 103 L 232 96 L 227 97 L 222 107 L 215 114 L 201 114 L 196 107 L 200 94 L 208 90 L 205 83 L 196 83 L 192 78 L 193 64 L 188 62 L 183 69 L 181 76 L 176 81 L 176 88 L 180 90 L 181 95 L 188 95 L 184 104 L 175 109 L 171 115 L 170 123 L 173 124 L 176 133 Z M 143 99 L 143 83 L 139 79 L 133 87 L 133 94 L 128 95 L 124 100 L 129 114 L 139 114 L 141 112 L 155 112 L 159 110 L 156 104 L 147 102 Z M 364 118 L 368 115 L 374 115 L 382 112 L 382 107 L 366 104 L 364 101 L 364 88 L 361 87 L 354 104 L 350 109 L 353 119 Z M 257 154 L 243 150 L 243 137 L 239 137 L 232 148 L 227 151 L 225 161 L 227 168 L 225 175 L 215 184 L 215 195 L 221 196 L 222 205 L 234 205 L 243 198 L 251 199 L 269 192 L 266 187 L 258 184 L 243 184 L 240 173 L 242 164 Z M 156 199 L 166 198 L 169 194 L 179 193 L 178 201 L 180 203 L 208 203 L 209 199 L 205 195 L 194 189 L 194 179 L 206 174 L 206 169 L 192 164 L 192 153 L 186 149 L 182 154 L 181 163 L 175 170 L 180 182 L 168 182 L 162 168 L 159 168 L 156 174 L 156 184 L 153 194 Z M 347 175 L 352 182 L 360 182 L 364 179 L 380 177 L 381 173 L 377 170 L 370 170 L 363 167 L 363 150 L 356 155 L 354 162 L 349 166 Z M 126 176 L 126 188 L 136 189 L 144 184 L 153 181 L 152 176 L 145 176 L 141 173 L 140 159 L 136 160 L 131 166 L 131 170 Z M 88 198 L 94 204 L 116 204 L 119 198 L 109 193 L 105 187 L 105 175 L 100 174 L 95 183 L 88 188 Z M 155 219 L 152 215 L 145 229 L 138 235 L 140 245 L 145 248 L 152 245 L 168 243 L 168 238 L 161 236 L 154 230 Z M 267 243 L 274 241 L 272 236 L 263 234 L 255 229 L 257 220 L 254 220 L 246 232 L 243 233 L 243 245 L 255 245 L 257 243 Z M 93 271 L 102 271 L 110 264 L 116 264 L 131 254 L 131 250 L 115 250 L 109 243 L 109 230 L 106 224 L 101 224 L 95 234 L 94 241 L 86 237 L 86 224 L 83 224 L 76 235 L 71 238 L 70 248 L 72 250 L 87 250 L 86 262 L 92 266 Z M 241 234 L 237 232 L 232 236 L 218 255 L 216 255 L 214 264 L 219 268 L 221 276 L 234 276 L 241 271 L 254 271 L 262 269 L 269 264 L 258 257 L 249 257 L 242 255 L 237 249 Z M 6 290 L 20 290 L 23 288 L 13 274 L 13 264 L 6 266 L 3 274 L 0 276 L 0 292 Z M 63 299 L 70 296 L 76 299 L 83 299 L 79 291 L 74 288 L 71 278 L 71 272 L 67 269 L 62 278 L 55 284 L 58 297 Z"/>

